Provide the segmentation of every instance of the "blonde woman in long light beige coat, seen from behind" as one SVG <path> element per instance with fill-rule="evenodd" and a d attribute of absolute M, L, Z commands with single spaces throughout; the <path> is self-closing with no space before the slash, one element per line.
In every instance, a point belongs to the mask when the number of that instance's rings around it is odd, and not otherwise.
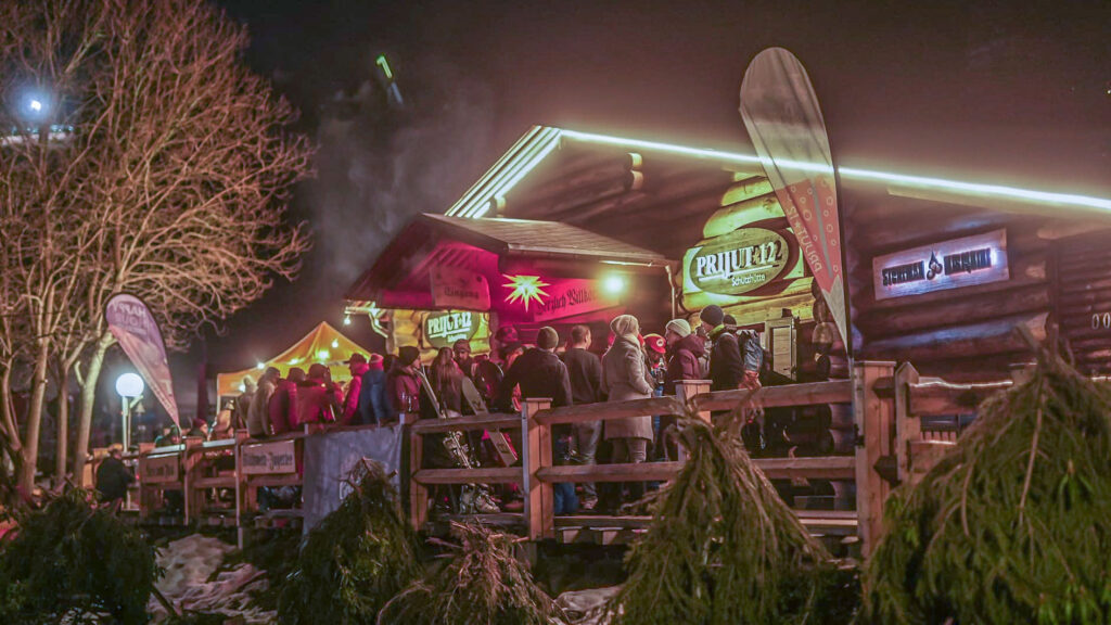
<path fill-rule="evenodd" d="M 652 380 L 640 346 L 640 323 L 632 315 L 619 315 L 610 321 L 613 344 L 602 356 L 602 390 L 609 401 L 647 399 L 652 396 Z M 613 445 L 614 463 L 643 463 L 652 442 L 652 417 L 627 417 L 605 421 L 605 439 Z M 632 500 L 644 495 L 644 483 L 629 483 Z"/>

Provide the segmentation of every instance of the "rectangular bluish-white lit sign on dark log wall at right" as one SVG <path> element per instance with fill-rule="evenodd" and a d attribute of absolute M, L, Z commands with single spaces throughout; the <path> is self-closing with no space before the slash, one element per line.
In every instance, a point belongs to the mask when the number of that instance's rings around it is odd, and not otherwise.
<path fill-rule="evenodd" d="M 875 299 L 1007 280 L 1007 230 L 879 256 L 872 274 Z"/>

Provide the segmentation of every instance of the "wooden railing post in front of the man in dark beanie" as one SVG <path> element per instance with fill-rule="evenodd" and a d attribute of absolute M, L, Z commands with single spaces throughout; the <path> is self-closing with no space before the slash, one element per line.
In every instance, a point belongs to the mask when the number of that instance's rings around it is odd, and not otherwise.
<path fill-rule="evenodd" d="M 537 473 L 552 466 L 552 428 L 537 423 L 537 413 L 552 405 L 548 398 L 526 399 L 521 408 L 521 434 L 524 458 L 524 522 L 529 528 L 529 540 L 556 537 L 556 510 L 552 485 L 541 482 Z"/>

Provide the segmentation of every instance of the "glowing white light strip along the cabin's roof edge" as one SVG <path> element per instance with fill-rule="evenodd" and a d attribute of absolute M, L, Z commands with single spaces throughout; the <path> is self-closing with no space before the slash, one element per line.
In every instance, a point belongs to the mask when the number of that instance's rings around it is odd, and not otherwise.
<path fill-rule="evenodd" d="M 620 137 L 611 137 L 608 135 L 597 135 L 593 132 L 580 132 L 578 130 L 563 130 L 559 128 L 537 126 L 526 133 L 526 136 L 522 137 L 509 152 L 502 156 L 502 158 L 490 169 L 490 172 L 480 179 L 478 183 L 471 187 L 468 192 L 464 194 L 464 196 L 448 210 L 447 214 L 449 216 L 458 215 L 470 218 L 482 217 L 489 211 L 489 201 L 491 198 L 499 196 L 504 197 L 514 186 L 517 186 L 518 182 L 528 176 L 530 171 L 536 169 L 536 167 L 540 165 L 540 162 L 543 161 L 543 159 L 547 158 L 552 150 L 559 147 L 561 139 L 564 137 L 568 139 L 575 139 L 604 146 L 614 146 L 622 149 L 633 148 L 670 152 L 698 159 L 709 159 L 740 165 L 759 163 L 761 167 L 770 165 L 767 159 L 741 152 L 689 148 L 685 146 L 661 143 L 658 141 L 622 139 Z M 529 146 L 529 143 L 534 142 L 538 143 L 538 146 Z M 532 152 L 532 150 L 538 147 L 539 151 L 534 152 L 534 156 L 532 156 L 532 153 L 524 153 L 522 156 L 526 148 L 528 148 L 528 152 Z M 509 170 L 501 171 L 500 169 L 503 165 L 506 165 L 506 161 L 512 159 L 523 159 L 523 165 L 511 167 Z M 780 168 L 794 169 L 799 171 L 814 171 L 820 173 L 829 173 L 832 171 L 832 168 L 828 163 L 780 160 L 777 161 L 777 165 Z M 842 178 L 863 181 L 889 182 L 928 189 L 959 191 L 970 195 L 1001 197 L 1021 201 L 1050 204 L 1065 207 L 1094 208 L 1111 211 L 1111 200 L 1092 196 L 1038 191 L 1034 189 L 1021 189 L 1018 187 L 1007 187 L 1002 185 L 961 182 L 959 180 L 929 178 L 924 176 L 907 176 L 902 173 L 858 169 L 853 167 L 839 167 L 838 172 Z"/>

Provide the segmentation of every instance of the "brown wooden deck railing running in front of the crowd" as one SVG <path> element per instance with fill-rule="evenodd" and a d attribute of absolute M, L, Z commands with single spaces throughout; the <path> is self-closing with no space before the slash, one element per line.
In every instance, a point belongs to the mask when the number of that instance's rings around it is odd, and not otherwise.
<path fill-rule="evenodd" d="M 524 494 L 520 515 L 508 517 L 522 525 L 533 540 L 578 536 L 593 525 L 629 530 L 642 526 L 641 517 L 556 517 L 552 486 L 558 483 L 665 482 L 683 466 L 679 462 L 623 465 L 557 466 L 552 453 L 552 427 L 584 421 L 605 421 L 642 415 L 675 415 L 685 410 L 709 419 L 710 411 L 731 410 L 739 405 L 762 408 L 801 407 L 819 404 L 851 405 L 855 426 L 852 455 L 757 458 L 771 479 L 825 479 L 855 483 L 854 512 L 797 510 L 812 530 L 832 536 L 855 534 L 864 553 L 881 527 L 883 502 L 897 484 L 914 482 L 937 463 L 953 440 L 938 440 L 923 429 L 923 417 L 969 414 L 993 393 L 997 385 L 951 385 L 924 379 L 909 364 L 858 363 L 852 380 L 833 380 L 765 387 L 755 393 L 710 393 L 709 383 L 682 383 L 675 397 L 659 397 L 551 408 L 546 399 L 529 399 L 520 414 L 489 414 L 452 419 L 424 419 L 407 426 L 409 513 L 413 526 L 426 527 L 430 488 L 439 485 L 517 484 Z M 367 426 L 370 427 L 370 426 Z M 423 438 L 447 431 L 502 430 L 520 434 L 520 466 L 427 468 Z M 167 490 L 184 494 L 186 520 L 198 522 L 212 513 L 213 489 L 233 489 L 234 524 L 243 528 L 258 512 L 258 489 L 263 486 L 300 486 L 308 430 L 261 440 L 184 444 L 143 449 L 138 455 L 140 516 L 148 517 L 163 502 Z M 955 436 L 955 434 L 954 434 Z M 227 458 L 233 458 L 229 464 Z M 277 458 L 277 459 L 276 459 Z M 222 515 L 227 510 L 217 509 Z M 227 515 L 222 515 L 227 518 Z M 480 517 L 481 518 L 481 517 Z"/>

